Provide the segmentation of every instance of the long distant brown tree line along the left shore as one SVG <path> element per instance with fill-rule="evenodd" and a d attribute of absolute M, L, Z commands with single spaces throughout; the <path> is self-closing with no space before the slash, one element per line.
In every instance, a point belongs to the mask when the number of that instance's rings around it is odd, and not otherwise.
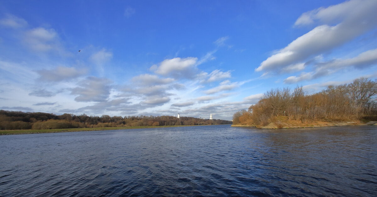
<path fill-rule="evenodd" d="M 64 113 L 55 115 L 43 112 L 22 112 L 0 110 L 2 130 L 98 128 L 128 126 L 171 126 L 171 125 L 217 125 L 231 124 L 219 119 L 199 119 L 175 116 L 87 116 Z"/>

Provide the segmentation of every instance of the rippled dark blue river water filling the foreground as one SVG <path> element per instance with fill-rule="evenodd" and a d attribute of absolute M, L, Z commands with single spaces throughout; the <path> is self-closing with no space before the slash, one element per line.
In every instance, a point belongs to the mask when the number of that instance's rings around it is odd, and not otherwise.
<path fill-rule="evenodd" d="M 375 196 L 377 127 L 0 136 L 0 196 Z"/>

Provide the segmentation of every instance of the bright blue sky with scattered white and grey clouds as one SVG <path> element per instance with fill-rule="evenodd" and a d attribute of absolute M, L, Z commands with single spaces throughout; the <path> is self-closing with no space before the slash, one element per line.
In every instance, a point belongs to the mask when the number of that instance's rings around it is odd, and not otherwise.
<path fill-rule="evenodd" d="M 231 120 L 273 88 L 376 78 L 376 10 L 376 0 L 2 0 L 0 109 Z"/>

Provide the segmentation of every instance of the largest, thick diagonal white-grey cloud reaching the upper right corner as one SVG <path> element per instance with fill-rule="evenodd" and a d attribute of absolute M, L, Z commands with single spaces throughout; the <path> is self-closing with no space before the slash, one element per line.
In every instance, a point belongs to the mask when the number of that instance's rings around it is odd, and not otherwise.
<path fill-rule="evenodd" d="M 377 26 L 377 1 L 351 0 L 304 13 L 296 25 L 322 23 L 263 61 L 256 71 L 280 71 L 338 47 Z M 331 26 L 333 23 L 338 24 Z M 300 67 L 299 67 L 300 69 Z M 291 69 L 288 69 L 291 70 Z"/>

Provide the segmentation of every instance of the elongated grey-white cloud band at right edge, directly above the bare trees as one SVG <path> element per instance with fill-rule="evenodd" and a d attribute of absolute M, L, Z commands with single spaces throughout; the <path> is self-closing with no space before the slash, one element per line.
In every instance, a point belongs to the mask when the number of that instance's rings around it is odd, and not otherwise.
<path fill-rule="evenodd" d="M 316 79 L 321 76 L 329 75 L 345 67 L 353 66 L 356 69 L 361 69 L 366 66 L 377 64 L 377 49 L 372 49 L 360 53 L 354 58 L 335 59 L 331 61 L 321 62 L 316 65 L 313 72 L 302 72 L 299 76 L 290 76 L 284 79 L 284 83 L 293 84 L 300 81 L 308 81 Z"/>

